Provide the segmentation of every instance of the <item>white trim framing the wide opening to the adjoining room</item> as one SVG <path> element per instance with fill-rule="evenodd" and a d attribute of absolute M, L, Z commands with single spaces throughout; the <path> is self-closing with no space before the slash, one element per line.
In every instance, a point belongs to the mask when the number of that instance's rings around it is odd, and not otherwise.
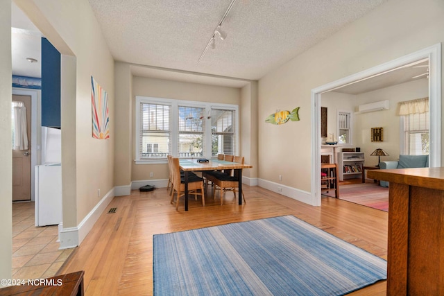
<path fill-rule="evenodd" d="M 429 59 L 429 112 L 431 167 L 441 166 L 441 43 L 429 46 L 401 58 L 352 74 L 345 78 L 311 89 L 311 204 L 321 206 L 321 94 L 352 82 L 365 80 L 401 67 L 404 64 Z M 339 168 L 341 169 L 341 168 Z"/>

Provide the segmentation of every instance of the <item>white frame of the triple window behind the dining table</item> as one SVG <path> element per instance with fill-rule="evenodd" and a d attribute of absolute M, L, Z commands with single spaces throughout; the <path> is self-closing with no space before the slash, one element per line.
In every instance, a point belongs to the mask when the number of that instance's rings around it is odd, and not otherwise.
<path fill-rule="evenodd" d="M 235 130 L 235 155 L 239 155 L 239 105 L 233 104 L 224 104 L 224 103 L 210 103 L 210 102 L 201 102 L 201 101 L 185 101 L 185 100 L 176 100 L 173 98 L 155 98 L 148 96 L 136 96 L 136 105 L 135 105 L 135 164 L 167 164 L 167 158 L 164 159 L 142 159 L 140 155 L 140 105 L 141 103 L 152 103 L 152 104 L 162 104 L 162 105 L 170 105 L 171 113 L 170 113 L 170 132 L 171 132 L 171 145 L 170 149 L 171 155 L 173 157 L 177 157 L 178 151 L 178 106 L 189 106 L 189 107 L 201 107 L 205 109 L 205 118 L 207 114 L 210 114 L 210 110 L 214 109 L 225 109 L 225 110 L 234 110 L 235 115 L 234 118 L 236 120 L 234 124 Z M 210 119 L 206 119 L 210 120 Z M 205 124 L 205 143 L 204 143 L 204 155 L 205 158 L 210 159 L 212 157 L 212 144 L 211 144 L 211 124 Z M 190 157 L 191 158 L 191 157 Z"/>

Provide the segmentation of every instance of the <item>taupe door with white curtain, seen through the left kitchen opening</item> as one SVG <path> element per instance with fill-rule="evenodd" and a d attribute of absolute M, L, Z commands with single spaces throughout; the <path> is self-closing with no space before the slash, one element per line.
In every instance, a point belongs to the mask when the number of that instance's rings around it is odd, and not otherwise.
<path fill-rule="evenodd" d="M 26 107 L 29 143 L 28 150 L 12 150 L 12 201 L 31 200 L 31 96 L 12 95 L 12 101 Z"/>

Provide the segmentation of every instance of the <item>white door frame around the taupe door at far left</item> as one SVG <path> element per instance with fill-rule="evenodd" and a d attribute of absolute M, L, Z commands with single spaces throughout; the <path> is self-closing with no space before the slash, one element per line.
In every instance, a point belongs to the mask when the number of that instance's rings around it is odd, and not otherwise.
<path fill-rule="evenodd" d="M 12 94 L 31 96 L 31 201 L 35 200 L 35 166 L 37 165 L 37 98 L 35 89 L 20 89 L 12 87 Z"/>

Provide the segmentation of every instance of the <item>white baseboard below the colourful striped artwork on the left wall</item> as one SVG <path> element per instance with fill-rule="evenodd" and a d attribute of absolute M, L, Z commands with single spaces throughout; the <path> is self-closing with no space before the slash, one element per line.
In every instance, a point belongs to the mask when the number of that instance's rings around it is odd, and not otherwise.
<path fill-rule="evenodd" d="M 103 196 L 100 202 L 96 204 L 96 207 L 83 218 L 77 227 L 62 228 L 59 233 L 60 250 L 80 245 L 113 198 L 114 188 Z"/>

